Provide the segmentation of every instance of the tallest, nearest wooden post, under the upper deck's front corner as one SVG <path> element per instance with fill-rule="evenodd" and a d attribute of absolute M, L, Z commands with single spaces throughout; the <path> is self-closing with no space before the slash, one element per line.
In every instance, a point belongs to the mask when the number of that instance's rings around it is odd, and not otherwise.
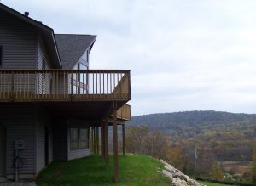
<path fill-rule="evenodd" d="M 118 133 L 117 133 L 117 105 L 113 102 L 113 167 L 114 181 L 119 182 L 119 157 L 118 157 Z"/>

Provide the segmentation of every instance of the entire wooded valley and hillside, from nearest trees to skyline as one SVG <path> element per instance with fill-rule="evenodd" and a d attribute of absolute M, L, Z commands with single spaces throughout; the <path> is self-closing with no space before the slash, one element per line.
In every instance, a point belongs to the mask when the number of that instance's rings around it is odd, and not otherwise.
<path fill-rule="evenodd" d="M 163 158 L 195 177 L 250 183 L 255 173 L 256 115 L 217 111 L 152 114 L 134 116 L 126 127 L 128 151 Z"/>

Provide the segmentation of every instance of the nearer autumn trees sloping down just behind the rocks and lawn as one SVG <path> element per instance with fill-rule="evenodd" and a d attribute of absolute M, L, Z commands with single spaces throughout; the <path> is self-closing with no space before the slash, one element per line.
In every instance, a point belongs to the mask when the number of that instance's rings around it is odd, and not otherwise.
<path fill-rule="evenodd" d="M 212 152 L 205 146 L 190 147 L 188 150 L 181 143 L 172 141 L 172 138 L 164 132 L 146 126 L 128 127 L 126 150 L 131 153 L 164 159 L 190 176 L 224 182 L 232 181 L 231 178 L 230 180 L 224 178 L 224 170 Z M 190 154 L 191 151 L 193 151 L 193 155 Z M 242 179 L 250 182 L 251 178 L 256 182 L 256 151 L 253 154 L 253 165 L 253 172 L 246 172 L 242 178 L 237 177 L 240 181 L 236 181 L 236 183 L 241 183 Z"/>

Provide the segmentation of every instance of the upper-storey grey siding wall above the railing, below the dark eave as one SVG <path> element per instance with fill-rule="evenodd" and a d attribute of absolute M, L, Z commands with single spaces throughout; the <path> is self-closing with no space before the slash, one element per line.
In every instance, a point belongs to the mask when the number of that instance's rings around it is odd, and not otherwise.
<path fill-rule="evenodd" d="M 37 33 L 30 26 L 0 13 L 0 46 L 3 47 L 3 68 L 35 69 Z"/>

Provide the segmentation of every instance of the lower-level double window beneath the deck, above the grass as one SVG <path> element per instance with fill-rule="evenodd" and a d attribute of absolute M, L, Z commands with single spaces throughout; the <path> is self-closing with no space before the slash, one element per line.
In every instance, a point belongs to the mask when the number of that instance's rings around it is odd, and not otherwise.
<path fill-rule="evenodd" d="M 89 129 L 71 128 L 70 129 L 70 149 L 89 149 Z"/>

